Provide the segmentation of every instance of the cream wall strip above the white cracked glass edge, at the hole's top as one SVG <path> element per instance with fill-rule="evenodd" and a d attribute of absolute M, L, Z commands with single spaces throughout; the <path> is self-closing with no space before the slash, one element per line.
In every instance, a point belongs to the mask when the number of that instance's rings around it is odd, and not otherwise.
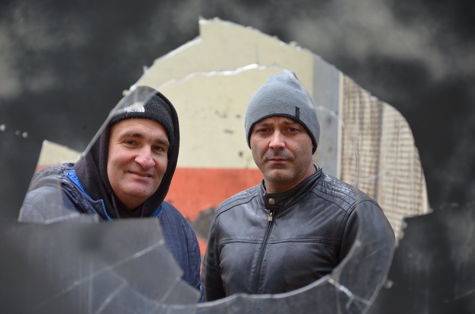
<path fill-rule="evenodd" d="M 200 36 L 156 59 L 135 85 L 160 88 L 191 73 L 237 70 L 252 64 L 295 70 L 312 92 L 313 55 L 251 27 L 219 19 L 200 20 Z M 212 56 L 212 57 L 211 57 Z"/>

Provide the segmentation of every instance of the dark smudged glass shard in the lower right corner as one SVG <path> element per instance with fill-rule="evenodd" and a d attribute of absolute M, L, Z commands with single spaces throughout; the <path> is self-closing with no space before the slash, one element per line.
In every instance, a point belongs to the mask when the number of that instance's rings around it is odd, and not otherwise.
<path fill-rule="evenodd" d="M 448 206 L 404 221 L 390 284 L 368 313 L 474 313 L 475 206 Z"/>

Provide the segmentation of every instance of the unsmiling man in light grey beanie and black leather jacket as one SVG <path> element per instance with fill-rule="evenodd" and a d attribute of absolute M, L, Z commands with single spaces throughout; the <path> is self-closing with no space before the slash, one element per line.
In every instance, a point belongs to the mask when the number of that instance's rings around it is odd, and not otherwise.
<path fill-rule="evenodd" d="M 391 255 L 394 232 L 380 206 L 313 163 L 320 125 L 294 72 L 271 75 L 254 94 L 245 131 L 263 180 L 214 212 L 202 269 L 205 300 L 288 292 L 329 274 L 356 239 L 356 207 L 381 253 Z"/>

